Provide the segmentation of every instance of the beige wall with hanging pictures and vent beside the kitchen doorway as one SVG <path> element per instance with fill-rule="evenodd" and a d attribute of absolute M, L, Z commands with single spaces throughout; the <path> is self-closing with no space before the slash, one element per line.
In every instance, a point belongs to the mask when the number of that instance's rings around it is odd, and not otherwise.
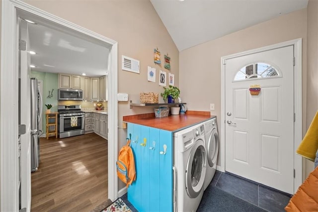
<path fill-rule="evenodd" d="M 118 41 L 118 92 L 128 93 L 133 102 L 139 102 L 140 92 L 163 91 L 158 85 L 159 70 L 169 71 L 163 65 L 155 65 L 154 48 L 161 51 L 161 61 L 166 53 L 171 57 L 170 72 L 175 75 L 178 86 L 179 52 L 149 0 L 25 2 Z M 121 55 L 140 60 L 140 74 L 122 71 Z M 156 83 L 147 82 L 147 66 L 157 68 Z M 118 109 L 119 126 L 122 126 L 123 115 L 153 112 L 148 107 L 130 109 L 127 102 L 119 103 Z M 118 131 L 120 149 L 126 143 L 127 131 L 121 128 Z M 120 182 L 119 189 L 123 187 Z"/>

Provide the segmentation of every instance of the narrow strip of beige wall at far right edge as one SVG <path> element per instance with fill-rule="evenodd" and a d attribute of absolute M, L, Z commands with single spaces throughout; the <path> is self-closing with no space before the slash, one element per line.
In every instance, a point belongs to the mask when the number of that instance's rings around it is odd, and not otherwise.
<path fill-rule="evenodd" d="M 308 129 L 318 110 L 318 1 L 309 0 L 307 13 L 307 115 Z M 314 163 L 305 160 L 306 176 L 314 169 Z"/>

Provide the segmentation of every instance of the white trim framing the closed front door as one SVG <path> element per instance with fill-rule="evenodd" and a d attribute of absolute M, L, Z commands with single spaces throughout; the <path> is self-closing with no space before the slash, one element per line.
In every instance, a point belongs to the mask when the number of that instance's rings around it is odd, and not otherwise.
<path fill-rule="evenodd" d="M 296 149 L 303 139 L 302 135 L 302 38 L 290 40 L 270 46 L 265 46 L 257 49 L 252 49 L 228 56 L 221 57 L 221 136 L 220 136 L 220 167 L 222 172 L 225 172 L 225 63 L 226 60 L 254 54 L 258 52 L 268 51 L 272 49 L 282 48 L 285 46 L 294 45 L 294 192 L 303 182 L 303 166 L 302 157 L 296 154 Z"/>

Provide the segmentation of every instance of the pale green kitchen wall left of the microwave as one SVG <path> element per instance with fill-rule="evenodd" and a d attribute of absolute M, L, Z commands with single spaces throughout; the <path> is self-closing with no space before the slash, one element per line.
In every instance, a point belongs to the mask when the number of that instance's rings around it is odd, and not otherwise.
<path fill-rule="evenodd" d="M 42 123 L 43 123 L 43 133 L 46 133 L 46 106 L 48 104 L 52 105 L 51 111 L 57 112 L 58 111 L 58 87 L 59 87 L 59 75 L 54 73 L 47 73 L 47 72 L 37 72 L 31 71 L 30 73 L 31 78 L 37 78 L 38 80 L 43 81 L 43 113 L 42 113 Z M 51 93 L 53 89 L 53 94 Z M 50 92 L 50 96 L 49 96 Z M 52 96 L 53 95 L 53 96 Z"/>

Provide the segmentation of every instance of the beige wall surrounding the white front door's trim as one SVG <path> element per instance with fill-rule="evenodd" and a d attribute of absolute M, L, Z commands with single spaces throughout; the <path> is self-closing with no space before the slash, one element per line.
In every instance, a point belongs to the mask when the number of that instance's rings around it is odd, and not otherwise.
<path fill-rule="evenodd" d="M 297 38 L 303 38 L 303 123 L 306 123 L 307 9 L 248 27 L 180 52 L 180 90 L 190 110 L 210 109 L 221 118 L 221 57 Z M 217 29 L 216 29 L 217 30 Z M 193 80 L 196 79 L 196 80 Z M 305 124 L 303 132 L 305 131 Z"/>

